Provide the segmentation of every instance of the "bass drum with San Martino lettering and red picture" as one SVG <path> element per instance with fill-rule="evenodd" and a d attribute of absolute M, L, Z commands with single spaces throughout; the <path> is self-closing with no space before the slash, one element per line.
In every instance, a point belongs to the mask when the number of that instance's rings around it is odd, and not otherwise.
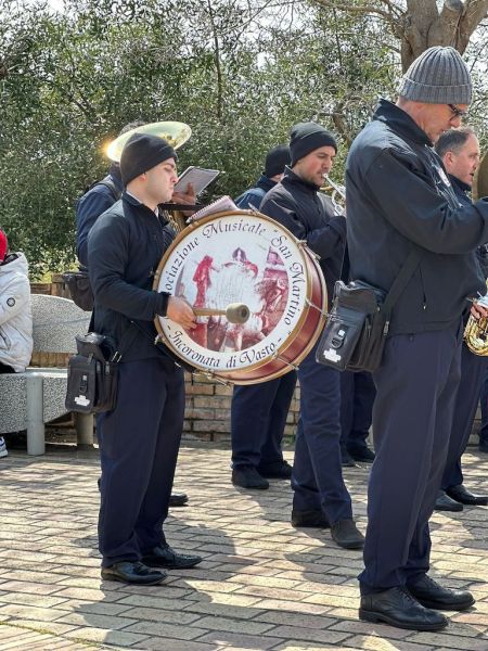
<path fill-rule="evenodd" d="M 155 319 L 178 357 L 234 384 L 272 380 L 296 368 L 322 331 L 328 304 L 314 254 L 273 219 L 247 210 L 192 222 L 165 253 L 153 289 L 207 314 L 235 303 L 248 307 L 244 323 L 213 314 L 197 317 L 190 332 Z"/>

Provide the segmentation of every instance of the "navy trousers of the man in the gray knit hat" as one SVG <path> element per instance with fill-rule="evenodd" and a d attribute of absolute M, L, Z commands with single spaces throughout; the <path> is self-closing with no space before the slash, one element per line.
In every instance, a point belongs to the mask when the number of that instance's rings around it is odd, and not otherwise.
<path fill-rule="evenodd" d="M 461 321 L 386 343 L 374 373 L 376 458 L 368 490 L 362 593 L 403 586 L 428 571 L 428 519 L 446 465 L 461 343 Z"/>

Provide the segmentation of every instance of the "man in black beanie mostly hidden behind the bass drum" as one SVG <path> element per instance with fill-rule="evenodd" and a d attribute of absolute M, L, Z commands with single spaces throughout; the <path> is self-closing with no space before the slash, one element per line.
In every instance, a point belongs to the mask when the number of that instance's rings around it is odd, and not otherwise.
<path fill-rule="evenodd" d="M 256 186 L 235 200 L 240 208 L 259 208 L 265 194 L 282 179 L 290 165 L 290 148 L 279 144 L 266 156 Z M 231 406 L 232 483 L 243 488 L 269 488 L 267 477 L 288 480 L 292 467 L 281 443 L 295 391 L 296 373 L 258 384 L 234 385 Z"/>

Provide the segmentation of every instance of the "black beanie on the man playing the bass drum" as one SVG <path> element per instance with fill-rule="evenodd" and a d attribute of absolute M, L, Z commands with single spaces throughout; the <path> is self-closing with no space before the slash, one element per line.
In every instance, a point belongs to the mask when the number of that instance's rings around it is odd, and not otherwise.
<path fill-rule="evenodd" d="M 167 140 L 158 136 L 134 133 L 124 145 L 120 155 L 120 175 L 124 187 L 168 158 L 178 161 L 175 150 Z"/>

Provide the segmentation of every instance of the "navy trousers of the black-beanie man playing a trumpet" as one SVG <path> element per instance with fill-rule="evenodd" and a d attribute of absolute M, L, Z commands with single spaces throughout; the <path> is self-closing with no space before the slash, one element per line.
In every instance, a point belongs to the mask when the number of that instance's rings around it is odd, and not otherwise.
<path fill-rule="evenodd" d="M 339 371 L 316 361 L 316 349 L 301 361 L 300 418 L 295 443 L 293 509 L 322 511 L 329 522 L 352 518 L 341 463 Z"/>

